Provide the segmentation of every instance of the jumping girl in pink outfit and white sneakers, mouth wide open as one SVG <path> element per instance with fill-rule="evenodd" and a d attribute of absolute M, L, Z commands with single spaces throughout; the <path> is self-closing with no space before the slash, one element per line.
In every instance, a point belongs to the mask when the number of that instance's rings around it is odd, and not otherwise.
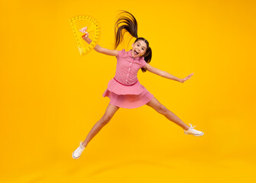
<path fill-rule="evenodd" d="M 122 24 L 122 25 L 121 25 Z M 87 27 L 83 27 L 80 31 L 84 33 L 83 40 L 87 43 L 91 43 L 92 40 L 89 39 L 89 34 L 86 32 Z M 186 78 L 179 79 L 168 72 L 162 71 L 160 69 L 154 68 L 148 63 L 151 62 L 152 50 L 149 47 L 149 43 L 143 37 L 138 37 L 137 30 L 138 24 L 134 16 L 123 11 L 122 16 L 118 18 L 115 23 L 115 49 L 118 47 L 119 43 L 122 42 L 124 31 L 128 31 L 132 37 L 137 38 L 134 43 L 132 43 L 132 49 L 128 52 L 125 49 L 109 50 L 100 47 L 98 44 L 94 47 L 99 53 L 104 53 L 109 56 L 115 56 L 117 58 L 117 66 L 115 77 L 109 81 L 108 88 L 103 93 L 103 97 L 109 97 L 110 102 L 106 108 L 105 114 L 102 118 L 92 127 L 89 134 L 86 136 L 86 140 L 79 143 L 79 147 L 73 152 L 73 159 L 78 159 L 83 150 L 88 145 L 89 141 L 92 140 L 99 130 L 102 129 L 109 121 L 112 119 L 113 115 L 119 108 L 139 108 L 144 104 L 147 104 L 151 108 L 154 108 L 160 114 L 167 117 L 168 120 L 173 121 L 175 124 L 183 128 L 185 134 L 192 134 L 194 136 L 203 136 L 203 132 L 195 130 L 194 126 L 190 124 L 190 127 L 183 123 L 179 117 L 169 111 L 163 104 L 157 101 L 150 92 L 138 82 L 137 73 L 141 69 L 142 72 L 153 72 L 154 74 L 160 75 L 167 79 L 173 79 L 177 82 L 185 82 L 193 74 L 186 76 Z M 124 30 L 122 32 L 122 30 Z"/>

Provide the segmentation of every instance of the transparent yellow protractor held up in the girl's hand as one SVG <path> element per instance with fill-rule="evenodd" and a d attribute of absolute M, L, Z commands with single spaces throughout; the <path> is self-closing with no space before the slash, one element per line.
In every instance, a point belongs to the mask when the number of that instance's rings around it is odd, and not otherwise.
<path fill-rule="evenodd" d="M 99 41 L 100 35 L 100 27 L 96 19 L 92 18 L 89 15 L 77 15 L 73 18 L 70 18 L 71 28 L 73 30 L 73 34 L 76 38 L 76 44 L 81 56 L 86 55 L 92 50 Z M 86 43 L 83 40 L 82 36 L 84 35 L 79 30 L 83 27 L 87 27 L 87 32 L 89 33 L 89 38 L 92 40 L 91 43 Z"/>

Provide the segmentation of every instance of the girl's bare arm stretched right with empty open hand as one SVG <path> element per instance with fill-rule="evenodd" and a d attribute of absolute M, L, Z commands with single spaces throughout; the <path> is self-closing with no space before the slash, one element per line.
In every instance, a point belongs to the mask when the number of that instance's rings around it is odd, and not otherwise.
<path fill-rule="evenodd" d="M 177 78 L 177 77 L 174 76 L 174 75 L 171 75 L 171 74 L 168 73 L 168 72 L 165 72 L 165 71 L 162 71 L 162 70 L 160 70 L 160 69 L 154 68 L 153 66 L 149 65 L 148 63 L 146 64 L 146 69 L 147 69 L 149 72 L 152 72 L 152 73 L 154 73 L 154 74 L 156 74 L 156 75 L 160 75 L 160 76 L 162 76 L 162 77 L 164 77 L 164 78 L 173 79 L 174 81 L 182 82 L 182 83 L 185 82 L 187 79 L 190 79 L 191 76 L 193 75 L 193 73 L 192 73 L 192 74 L 186 76 L 186 78 L 180 79 L 180 78 Z"/>

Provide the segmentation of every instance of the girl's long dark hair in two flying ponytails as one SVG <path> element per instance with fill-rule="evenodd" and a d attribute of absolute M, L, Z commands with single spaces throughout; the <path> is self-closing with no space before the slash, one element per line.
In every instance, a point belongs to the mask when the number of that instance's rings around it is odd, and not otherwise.
<path fill-rule="evenodd" d="M 128 11 L 122 11 L 122 13 L 120 13 L 120 17 L 115 22 L 115 49 L 120 43 L 122 43 L 125 34 L 125 32 L 122 32 L 122 30 L 128 31 L 132 37 L 137 38 L 134 43 L 136 43 L 138 40 L 143 40 L 147 44 L 147 50 L 143 56 L 146 63 L 150 63 L 152 57 L 151 47 L 149 47 L 149 43 L 146 39 L 143 37 L 138 37 L 138 24 L 136 18 L 134 18 L 134 16 Z M 144 68 L 141 68 L 141 70 L 142 72 L 147 71 L 147 69 Z"/>

